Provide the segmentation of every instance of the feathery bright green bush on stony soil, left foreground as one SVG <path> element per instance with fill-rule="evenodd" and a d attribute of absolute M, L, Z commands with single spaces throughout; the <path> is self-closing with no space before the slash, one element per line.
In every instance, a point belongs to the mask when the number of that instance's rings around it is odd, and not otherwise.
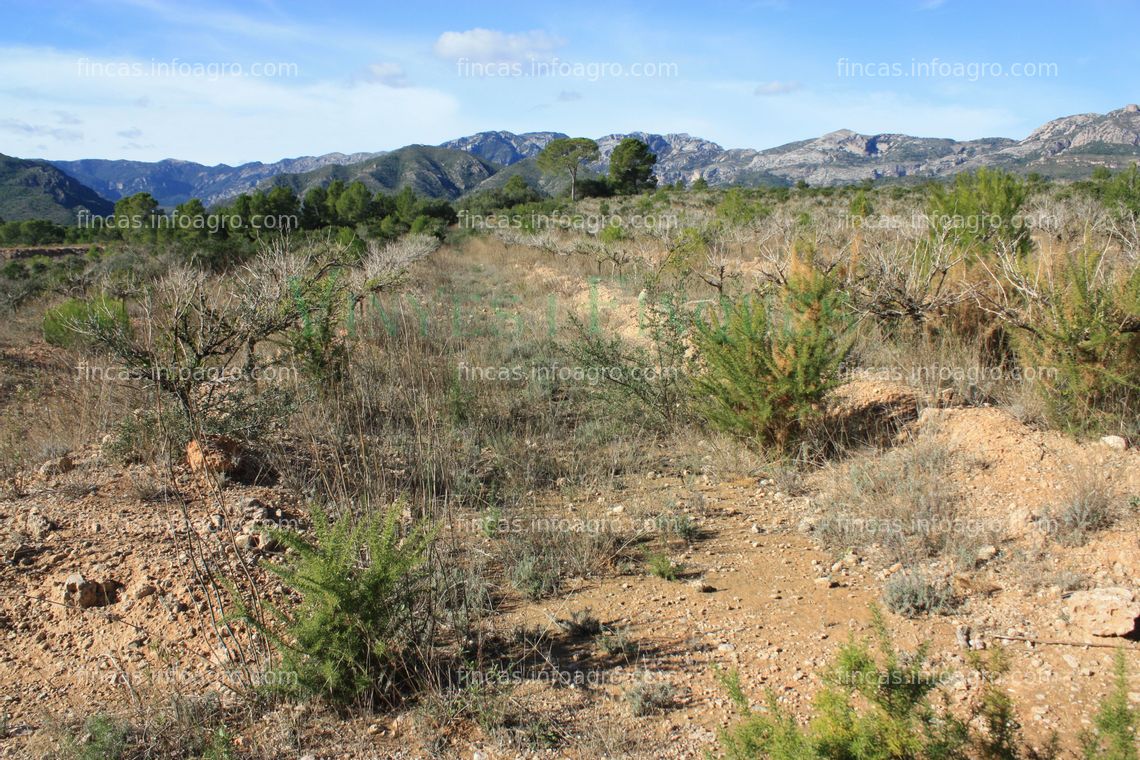
<path fill-rule="evenodd" d="M 312 530 L 312 540 L 269 531 L 295 554 L 267 569 L 300 600 L 271 608 L 278 626 L 243 616 L 274 643 L 282 671 L 295 675 L 284 690 L 341 706 L 394 702 L 426 656 L 431 536 L 401 532 L 399 505 L 359 517 L 345 510 L 335 521 L 314 508 Z"/>

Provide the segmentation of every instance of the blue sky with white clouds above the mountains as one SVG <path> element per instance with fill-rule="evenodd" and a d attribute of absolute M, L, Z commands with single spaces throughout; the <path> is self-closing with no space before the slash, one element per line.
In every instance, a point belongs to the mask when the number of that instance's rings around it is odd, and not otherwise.
<path fill-rule="evenodd" d="M 1024 138 L 1140 100 L 1135 0 L 2 0 L 0 153 L 274 162 L 483 130 Z"/>

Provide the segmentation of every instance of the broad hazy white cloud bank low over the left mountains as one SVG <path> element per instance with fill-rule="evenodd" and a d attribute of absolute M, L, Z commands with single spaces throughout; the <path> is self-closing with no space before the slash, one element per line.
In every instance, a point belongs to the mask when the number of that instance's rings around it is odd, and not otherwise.
<path fill-rule="evenodd" d="M 80 67 L 81 58 L 50 48 L 0 47 L 0 82 L 18 84 L 0 88 L 0 114 L 16 115 L 0 122 L 5 153 L 237 164 L 438 142 L 467 126 L 459 121 L 454 96 L 424 87 L 334 79 L 83 75 L 115 71 L 96 64 L 123 59 L 88 56 Z M 24 97 L 24 90 L 34 91 L 35 98 Z M 82 131 L 56 126 L 60 111 L 81 120 Z M 120 134 L 136 130 L 146 136 L 145 145 Z"/>

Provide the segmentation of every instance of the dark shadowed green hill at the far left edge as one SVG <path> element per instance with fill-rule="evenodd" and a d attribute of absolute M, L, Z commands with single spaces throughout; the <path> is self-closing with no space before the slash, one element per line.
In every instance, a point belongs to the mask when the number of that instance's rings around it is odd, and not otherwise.
<path fill-rule="evenodd" d="M 114 205 L 46 161 L 0 154 L 0 219 L 74 224 L 81 209 L 104 215 Z"/>

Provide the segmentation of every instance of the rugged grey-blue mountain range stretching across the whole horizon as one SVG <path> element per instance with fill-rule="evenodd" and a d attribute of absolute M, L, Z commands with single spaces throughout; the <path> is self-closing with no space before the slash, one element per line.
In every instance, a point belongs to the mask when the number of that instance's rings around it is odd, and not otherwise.
<path fill-rule="evenodd" d="M 331 153 L 239 166 L 164 160 L 158 162 L 35 161 L 0 156 L 0 218 L 74 220 L 84 207 L 104 213 L 114 201 L 146 191 L 164 207 L 192 197 L 207 206 L 242 193 L 284 185 L 303 194 L 333 180 L 360 180 L 373 190 L 405 187 L 431 197 L 458 198 L 503 186 L 521 174 L 547 191 L 561 177 L 544 175 L 536 156 L 561 132 L 480 132 L 439 146 L 413 145 L 381 153 Z M 657 154 L 662 182 L 705 178 L 712 186 L 841 185 L 864 179 L 937 179 L 979 166 L 1000 166 L 1057 179 L 1086 177 L 1097 166 L 1122 169 L 1140 161 L 1140 107 L 1056 119 L 1024 140 L 952 140 L 907 134 L 860 134 L 838 130 L 775 148 L 724 148 L 689 134 L 633 132 L 598 138 L 601 157 L 587 166 L 603 173 L 626 137 L 644 140 Z"/>

